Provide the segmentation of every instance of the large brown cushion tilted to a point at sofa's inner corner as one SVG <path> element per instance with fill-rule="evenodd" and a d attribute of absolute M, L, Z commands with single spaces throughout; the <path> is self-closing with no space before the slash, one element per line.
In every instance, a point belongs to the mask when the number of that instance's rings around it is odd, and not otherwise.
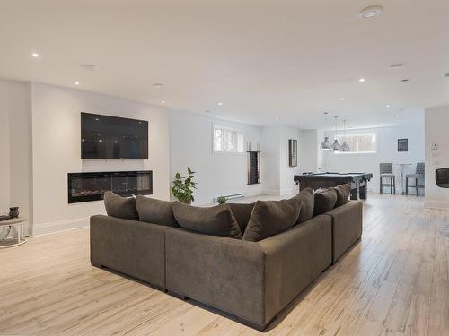
<path fill-rule="evenodd" d="M 258 242 L 295 225 L 301 211 L 297 197 L 282 201 L 258 201 L 254 205 L 243 240 Z"/>

